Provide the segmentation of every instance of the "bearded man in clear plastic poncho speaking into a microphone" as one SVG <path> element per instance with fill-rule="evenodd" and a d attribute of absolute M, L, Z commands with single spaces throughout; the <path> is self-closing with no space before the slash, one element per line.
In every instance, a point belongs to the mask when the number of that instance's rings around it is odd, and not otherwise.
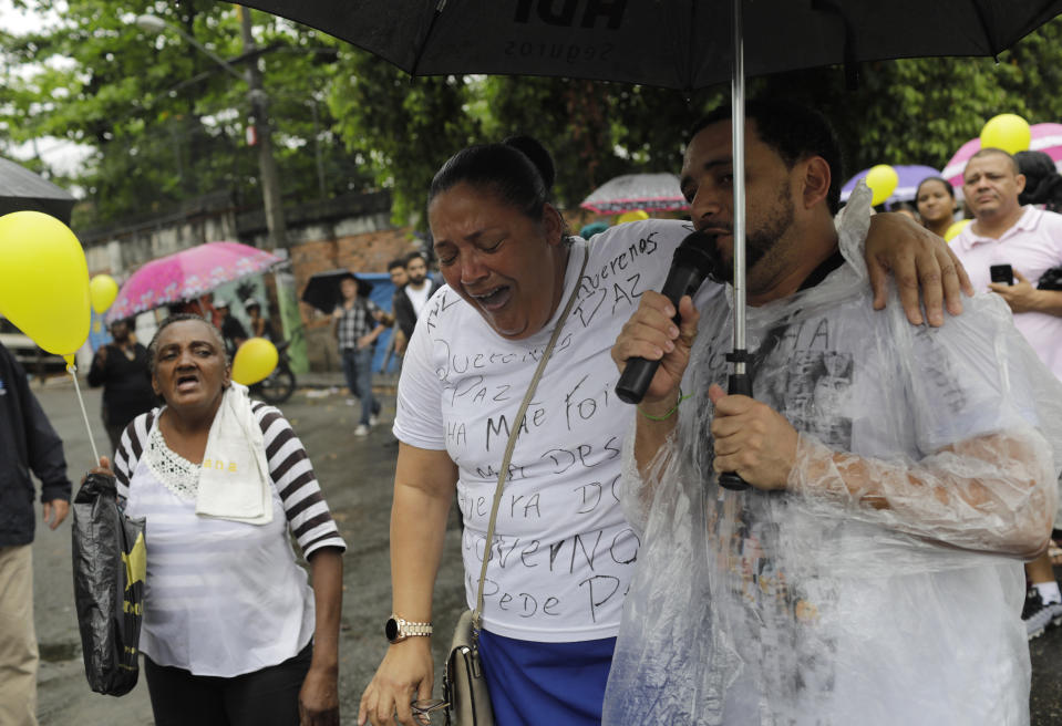
<path fill-rule="evenodd" d="M 718 386 L 726 310 L 698 320 L 685 298 L 677 326 L 646 293 L 614 349 L 662 365 L 625 453 L 642 547 L 605 723 L 1028 724 L 1020 560 L 1051 531 L 1062 386 L 990 297 L 939 329 L 874 312 L 870 194 L 835 230 L 828 125 L 746 113 L 755 400 Z M 720 271 L 730 123 L 694 132 L 682 175 Z M 720 488 L 726 470 L 752 487 Z"/>

